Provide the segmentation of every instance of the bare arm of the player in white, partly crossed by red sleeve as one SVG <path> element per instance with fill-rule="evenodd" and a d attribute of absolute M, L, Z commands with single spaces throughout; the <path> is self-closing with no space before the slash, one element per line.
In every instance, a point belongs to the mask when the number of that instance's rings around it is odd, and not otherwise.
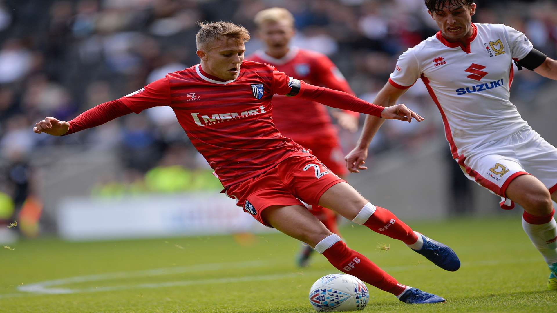
<path fill-rule="evenodd" d="M 387 84 L 383 86 L 383 89 L 379 91 L 379 94 L 375 96 L 373 102 L 385 107 L 393 107 L 397 99 L 407 90 L 408 89 L 396 88 L 387 82 Z M 423 120 L 421 116 L 419 116 L 418 121 L 420 120 Z M 356 147 L 344 158 L 346 161 L 346 168 L 348 168 L 350 172 L 359 173 L 360 169 L 368 169 L 363 166 L 365 164 L 365 159 L 368 157 L 368 146 L 375 133 L 377 133 L 381 125 L 383 125 L 383 121 L 384 119 L 380 119 L 376 116 L 366 116 L 364 127 L 361 131 L 358 143 L 356 143 Z"/>

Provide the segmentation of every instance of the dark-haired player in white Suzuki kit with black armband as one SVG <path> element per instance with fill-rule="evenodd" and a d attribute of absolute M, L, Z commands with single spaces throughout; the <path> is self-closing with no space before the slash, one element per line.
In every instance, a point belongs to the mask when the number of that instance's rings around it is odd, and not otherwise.
<path fill-rule="evenodd" d="M 501 207 L 524 208 L 522 228 L 550 268 L 557 290 L 557 149 L 523 120 L 509 101 L 513 66 L 557 80 L 557 61 L 526 36 L 501 24 L 474 24 L 472 0 L 425 0 L 440 30 L 397 61 L 374 104 L 394 105 L 422 79 L 443 119 L 453 158 L 465 175 L 500 195 Z M 356 147 L 346 155 L 350 172 L 363 166 L 383 119 L 367 116 Z"/>

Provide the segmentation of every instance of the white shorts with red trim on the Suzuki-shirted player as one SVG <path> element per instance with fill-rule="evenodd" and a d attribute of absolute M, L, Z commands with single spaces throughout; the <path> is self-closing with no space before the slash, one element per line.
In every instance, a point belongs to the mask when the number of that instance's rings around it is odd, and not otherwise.
<path fill-rule="evenodd" d="M 505 197 L 511 181 L 524 174 L 538 178 L 549 189 L 557 190 L 557 148 L 541 138 L 530 126 L 478 146 L 470 155 L 457 160 L 468 179 L 499 195 L 501 208 L 515 204 Z"/>

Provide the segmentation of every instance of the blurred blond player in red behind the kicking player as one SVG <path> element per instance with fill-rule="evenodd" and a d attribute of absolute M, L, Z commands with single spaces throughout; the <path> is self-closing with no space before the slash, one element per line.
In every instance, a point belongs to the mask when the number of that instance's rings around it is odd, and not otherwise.
<path fill-rule="evenodd" d="M 265 43 L 264 50 L 258 50 L 246 60 L 275 66 L 286 75 L 329 89 L 354 92 L 339 69 L 325 55 L 289 46 L 294 36 L 294 17 L 285 8 L 270 8 L 256 14 L 254 21 L 259 37 Z M 311 100 L 292 99 L 275 95 L 272 100 L 273 123 L 285 137 L 291 138 L 317 156 L 333 173 L 344 178 L 348 171 L 344 167 L 343 152 L 340 148 L 337 130 L 325 106 Z M 353 111 L 334 111 L 333 115 L 344 129 L 354 133 L 358 130 L 359 114 Z M 325 224 L 331 232 L 339 234 L 336 213 L 321 206 L 311 206 L 311 214 Z M 314 250 L 304 246 L 297 257 L 301 267 L 307 266 Z"/>

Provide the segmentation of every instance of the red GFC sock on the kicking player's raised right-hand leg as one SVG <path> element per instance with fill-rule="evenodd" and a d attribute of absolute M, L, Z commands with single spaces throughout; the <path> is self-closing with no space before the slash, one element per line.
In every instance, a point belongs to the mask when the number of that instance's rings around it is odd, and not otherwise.
<path fill-rule="evenodd" d="M 364 226 L 374 232 L 399 239 L 406 244 L 418 241 L 418 236 L 412 231 L 412 228 L 400 221 L 388 209 L 382 207 L 375 207 L 375 212 L 365 221 Z"/>

